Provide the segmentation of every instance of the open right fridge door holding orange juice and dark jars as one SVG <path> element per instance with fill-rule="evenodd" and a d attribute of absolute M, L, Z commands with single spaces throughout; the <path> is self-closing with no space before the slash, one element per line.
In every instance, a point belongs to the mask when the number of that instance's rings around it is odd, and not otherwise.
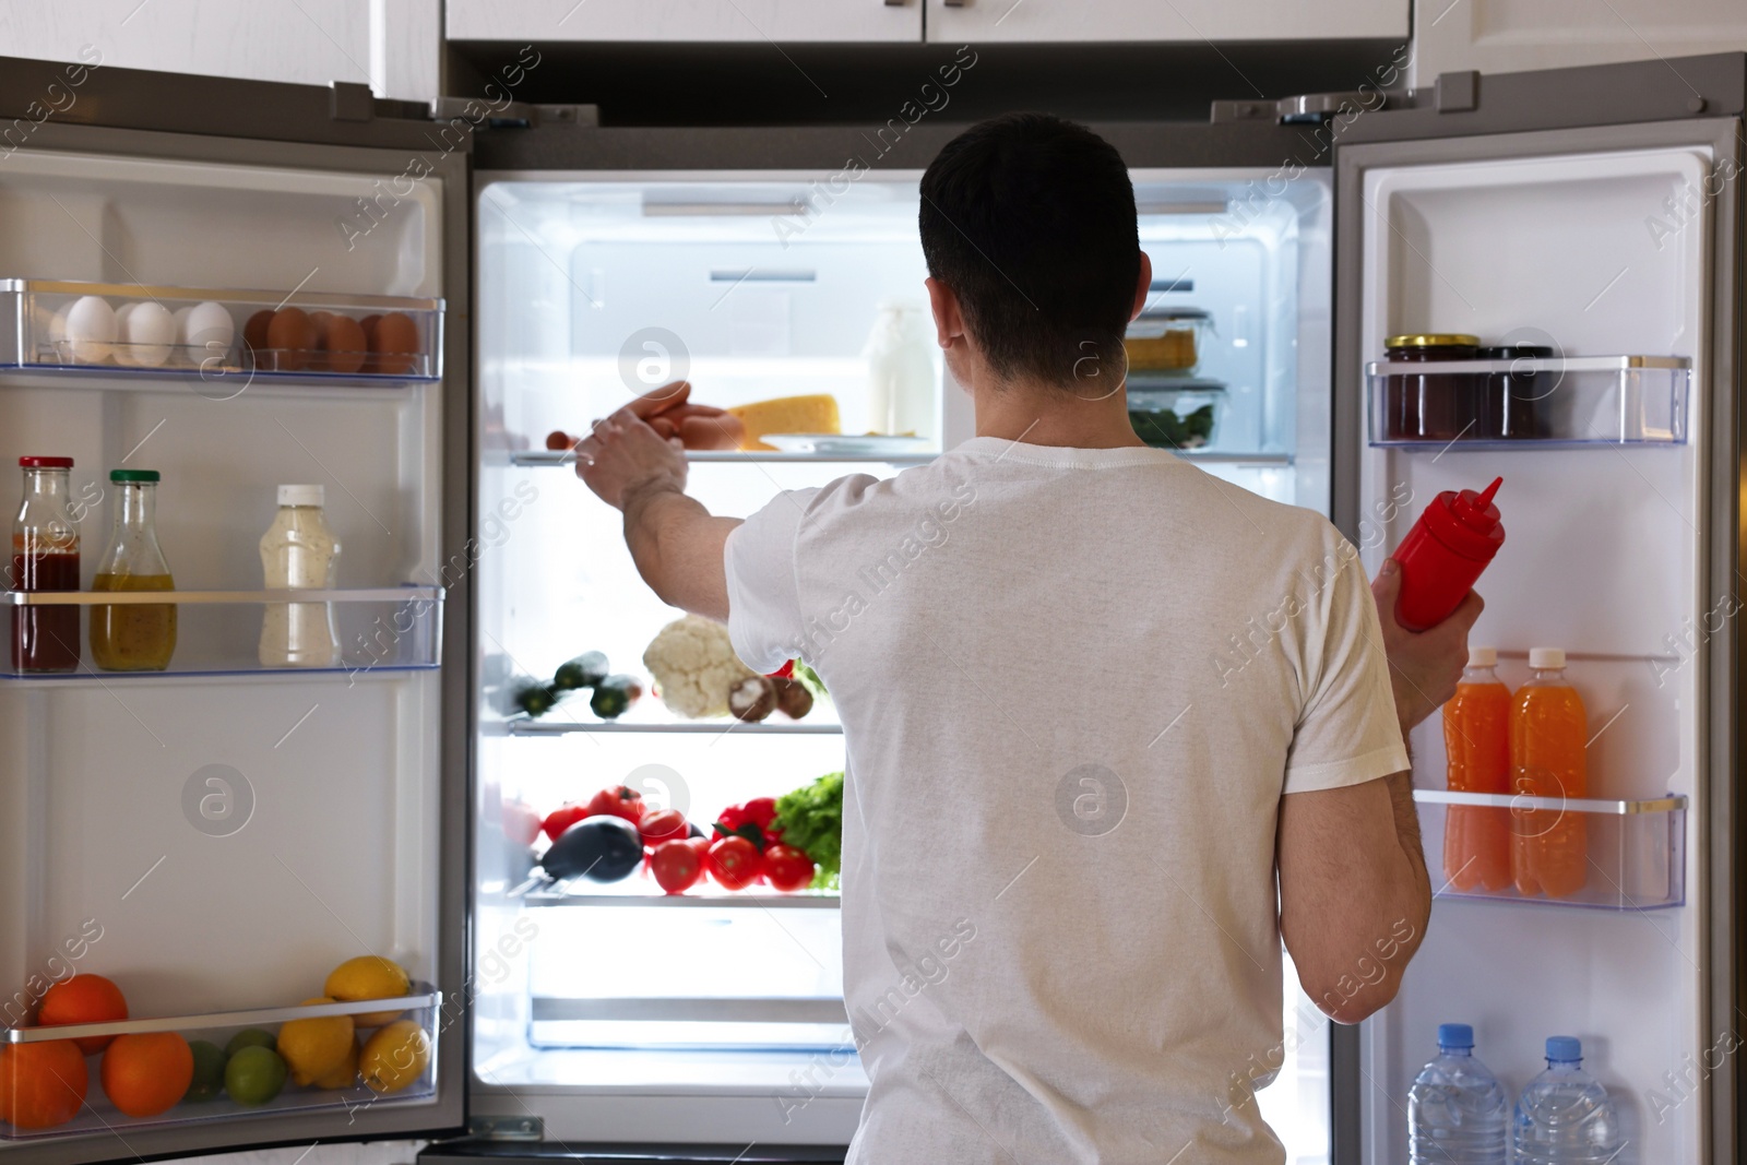
<path fill-rule="evenodd" d="M 1336 1044 L 1340 1162 L 1406 1160 L 1440 1024 L 1513 1100 L 1579 1037 L 1621 1162 L 1735 1160 L 1740 65 L 1487 77 L 1478 107 L 1440 79 L 1441 112 L 1370 114 L 1336 154 L 1335 515 L 1375 575 L 1502 477 L 1469 643 L 1515 692 L 1499 789 L 1452 767 L 1481 732 L 1454 706 L 1412 735 L 1433 917 Z M 1536 648 L 1583 702 L 1558 760 Z"/>

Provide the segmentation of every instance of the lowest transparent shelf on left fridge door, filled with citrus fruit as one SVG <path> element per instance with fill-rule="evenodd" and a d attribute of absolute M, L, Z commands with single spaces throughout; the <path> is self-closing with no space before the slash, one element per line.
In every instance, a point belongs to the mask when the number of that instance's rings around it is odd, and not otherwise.
<path fill-rule="evenodd" d="M 386 1004 L 386 1006 L 384 1006 Z M 363 1085 L 355 1072 L 351 1083 L 342 1088 L 297 1086 L 287 1079 L 285 1086 L 262 1104 L 239 1104 L 229 1095 L 215 1095 L 210 1100 L 182 1100 L 155 1116 L 128 1116 L 121 1113 L 103 1093 L 98 1083 L 98 1065 L 101 1055 L 87 1060 L 89 1083 L 86 1085 L 86 1102 L 79 1116 L 51 1128 L 23 1128 L 0 1123 L 0 1139 L 5 1141 L 42 1141 L 54 1137 L 75 1137 L 91 1134 L 115 1134 L 122 1130 L 145 1128 L 154 1125 L 190 1125 L 203 1121 L 234 1121 L 253 1116 L 276 1116 L 285 1113 L 304 1113 L 314 1109 L 356 1111 L 377 1104 L 418 1104 L 430 1100 L 437 1090 L 435 1039 L 442 1027 L 442 994 L 428 983 L 416 983 L 412 994 L 393 999 L 356 999 L 349 1003 L 320 1003 L 309 1006 L 253 1008 L 246 1011 L 217 1011 L 208 1015 L 182 1015 L 140 1020 L 117 1020 L 114 1024 L 77 1024 L 63 1027 L 9 1027 L 3 1029 L 3 1044 L 12 1055 L 23 1053 L 31 1044 L 82 1039 L 94 1036 L 124 1036 L 143 1032 L 176 1032 L 189 1041 L 204 1039 L 217 1048 L 224 1048 L 238 1032 L 248 1029 L 274 1031 L 292 1020 L 320 1020 L 330 1017 L 360 1017 L 383 1011 L 398 1011 L 391 1024 L 409 1022 L 412 1027 L 367 1027 L 358 1029 L 355 1039 L 362 1043 L 363 1055 L 384 1057 L 390 1065 L 405 1065 L 411 1072 L 423 1058 L 423 1069 L 400 1083 L 393 1092 L 376 1092 Z M 381 1044 L 370 1050 L 370 1039 L 379 1032 Z M 393 1046 L 390 1046 L 393 1044 Z M 342 1071 L 342 1069 L 341 1069 Z M 393 1076 L 390 1083 L 398 1083 Z"/>

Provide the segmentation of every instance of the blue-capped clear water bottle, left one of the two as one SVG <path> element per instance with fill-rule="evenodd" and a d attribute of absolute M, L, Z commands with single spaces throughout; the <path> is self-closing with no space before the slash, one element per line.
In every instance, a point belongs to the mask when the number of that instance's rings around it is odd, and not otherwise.
<path fill-rule="evenodd" d="M 1504 1165 L 1511 1100 L 1474 1058 L 1474 1029 L 1438 1025 L 1438 1058 L 1408 1090 L 1412 1165 Z"/>

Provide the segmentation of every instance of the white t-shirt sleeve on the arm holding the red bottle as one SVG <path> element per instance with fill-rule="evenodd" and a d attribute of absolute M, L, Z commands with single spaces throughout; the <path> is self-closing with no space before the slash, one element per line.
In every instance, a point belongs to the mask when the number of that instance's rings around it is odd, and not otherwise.
<path fill-rule="evenodd" d="M 1321 604 L 1321 650 L 1309 645 L 1309 699 L 1286 758 L 1286 793 L 1363 784 L 1408 769 L 1377 603 L 1349 543 L 1340 543 L 1336 561 Z"/>

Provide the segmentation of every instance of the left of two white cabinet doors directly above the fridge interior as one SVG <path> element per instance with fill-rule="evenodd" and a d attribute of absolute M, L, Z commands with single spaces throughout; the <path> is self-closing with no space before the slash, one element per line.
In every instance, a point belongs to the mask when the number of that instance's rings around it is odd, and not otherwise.
<path fill-rule="evenodd" d="M 447 0 L 451 40 L 921 40 L 924 0 Z"/>

